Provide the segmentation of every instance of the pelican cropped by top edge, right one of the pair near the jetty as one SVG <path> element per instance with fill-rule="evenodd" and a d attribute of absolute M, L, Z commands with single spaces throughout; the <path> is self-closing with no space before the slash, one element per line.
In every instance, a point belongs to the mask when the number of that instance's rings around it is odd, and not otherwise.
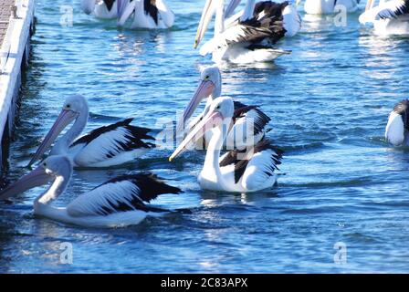
<path fill-rule="evenodd" d="M 133 14 L 131 28 L 165 29 L 173 26 L 174 14 L 163 0 L 118 0 L 118 26 Z"/>

